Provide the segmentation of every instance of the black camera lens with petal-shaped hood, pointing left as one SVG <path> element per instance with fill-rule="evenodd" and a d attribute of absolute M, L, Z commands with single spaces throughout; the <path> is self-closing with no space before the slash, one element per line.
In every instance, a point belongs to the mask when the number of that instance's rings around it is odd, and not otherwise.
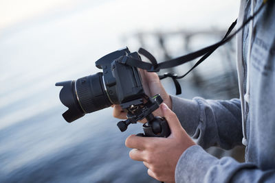
<path fill-rule="evenodd" d="M 69 108 L 63 113 L 67 122 L 111 106 L 104 89 L 102 73 L 82 77 L 76 81 L 59 82 L 56 86 L 63 86 L 59 98 Z"/>

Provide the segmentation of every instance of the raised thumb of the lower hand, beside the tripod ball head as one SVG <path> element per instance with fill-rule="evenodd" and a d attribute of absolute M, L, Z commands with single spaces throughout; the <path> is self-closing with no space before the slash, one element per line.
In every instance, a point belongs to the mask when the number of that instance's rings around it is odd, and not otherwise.
<path fill-rule="evenodd" d="M 162 114 L 164 115 L 169 127 L 170 131 L 173 134 L 177 134 L 181 131 L 181 124 L 179 123 L 179 119 L 177 119 L 177 115 L 166 106 L 165 103 L 162 103 L 160 108 L 162 109 Z"/>

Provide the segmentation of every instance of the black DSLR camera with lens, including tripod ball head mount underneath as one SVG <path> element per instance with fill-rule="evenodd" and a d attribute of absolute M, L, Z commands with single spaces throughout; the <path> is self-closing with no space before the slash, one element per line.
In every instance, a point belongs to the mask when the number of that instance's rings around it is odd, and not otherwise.
<path fill-rule="evenodd" d="M 71 123 L 87 113 L 117 104 L 127 112 L 126 121 L 118 123 L 122 132 L 129 124 L 146 118 L 148 122 L 143 125 L 144 134 L 138 135 L 167 137 L 170 130 L 166 120 L 152 114 L 159 108 L 162 98 L 160 95 L 148 97 L 144 93 L 137 67 L 125 64 L 125 58 L 141 61 L 137 52 L 131 53 L 126 47 L 96 61 L 96 67 L 102 72 L 75 81 L 56 83 L 56 86 L 63 86 L 59 97 L 68 108 L 63 113 L 64 119 Z"/>

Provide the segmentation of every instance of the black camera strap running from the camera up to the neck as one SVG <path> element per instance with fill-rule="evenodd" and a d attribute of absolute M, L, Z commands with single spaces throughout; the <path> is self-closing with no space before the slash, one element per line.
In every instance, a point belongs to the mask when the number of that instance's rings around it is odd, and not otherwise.
<path fill-rule="evenodd" d="M 165 73 L 164 75 L 159 75 L 159 79 L 162 80 L 166 77 L 171 77 L 173 79 L 173 82 L 175 83 L 175 87 L 176 87 L 176 95 L 181 94 L 181 86 L 179 84 L 179 82 L 177 82 L 177 79 L 181 79 L 183 77 L 185 77 L 186 75 L 188 75 L 188 73 L 190 73 L 190 71 L 192 71 L 193 69 L 195 69 L 199 64 L 201 64 L 201 62 L 203 62 L 204 60 L 206 60 L 206 58 L 208 58 L 208 56 L 210 56 L 218 47 L 220 47 L 221 45 L 224 45 L 226 42 L 230 41 L 238 32 L 241 31 L 241 29 L 243 29 L 243 27 L 245 27 L 245 25 L 248 25 L 248 23 L 254 19 L 254 17 L 259 14 L 259 12 L 263 9 L 263 6 L 266 4 L 268 0 L 263 0 L 263 3 L 261 4 L 260 8 L 252 15 L 250 16 L 244 23 L 243 25 L 241 25 L 241 27 L 239 27 L 238 29 L 236 29 L 236 31 L 232 34 L 230 34 L 232 32 L 232 29 L 234 29 L 234 27 L 236 26 L 236 21 L 234 21 L 232 23 L 232 25 L 230 25 L 230 27 L 228 28 L 228 32 L 226 32 L 225 36 L 223 37 L 222 40 L 220 40 L 217 43 L 214 43 L 213 45 L 210 45 L 208 47 L 204 47 L 203 49 L 199 49 L 198 51 L 192 52 L 192 53 L 188 53 L 185 56 L 180 56 L 178 58 L 174 58 L 172 60 L 167 60 L 164 62 L 160 62 L 159 64 L 157 63 L 157 60 L 155 59 L 155 57 L 149 53 L 148 51 L 146 51 L 143 48 L 140 48 L 138 50 L 138 53 L 140 53 L 142 56 L 145 56 L 146 58 L 148 58 L 148 60 L 151 62 L 142 62 L 140 60 L 137 60 L 135 58 L 131 58 L 129 56 L 125 56 L 124 58 L 122 58 L 122 60 L 120 60 L 120 62 L 124 63 L 124 64 L 128 64 L 129 66 L 136 66 L 140 69 L 144 69 L 148 72 L 159 72 L 160 69 L 168 69 L 174 66 L 179 66 L 181 64 L 185 64 L 187 62 L 190 62 L 192 60 L 195 60 L 196 58 L 201 57 L 194 66 L 192 66 L 192 68 L 186 72 L 184 75 L 180 75 L 177 76 L 176 74 L 173 73 Z"/>

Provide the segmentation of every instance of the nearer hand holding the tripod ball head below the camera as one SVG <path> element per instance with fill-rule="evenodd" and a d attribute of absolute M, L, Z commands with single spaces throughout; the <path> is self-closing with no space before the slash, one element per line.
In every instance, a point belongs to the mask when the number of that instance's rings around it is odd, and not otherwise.
<path fill-rule="evenodd" d="M 175 182 L 175 168 L 181 154 L 195 142 L 188 136 L 174 112 L 164 103 L 161 112 L 170 127 L 168 138 L 131 135 L 126 138 L 126 147 L 133 148 L 129 156 L 142 161 L 148 175 L 162 182 Z"/>

